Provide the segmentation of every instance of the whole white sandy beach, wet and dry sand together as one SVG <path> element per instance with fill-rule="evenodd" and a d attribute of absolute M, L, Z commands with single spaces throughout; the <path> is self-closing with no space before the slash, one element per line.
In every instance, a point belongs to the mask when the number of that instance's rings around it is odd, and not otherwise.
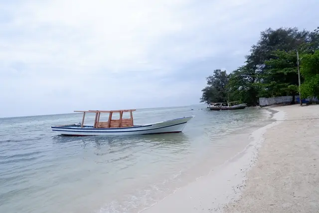
<path fill-rule="evenodd" d="M 272 109 L 243 152 L 143 213 L 319 213 L 319 105 Z"/>

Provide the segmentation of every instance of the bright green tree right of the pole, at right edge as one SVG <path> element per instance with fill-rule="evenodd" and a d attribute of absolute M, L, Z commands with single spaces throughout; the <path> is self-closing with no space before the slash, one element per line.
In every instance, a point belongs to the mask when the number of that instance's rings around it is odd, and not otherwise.
<path fill-rule="evenodd" d="M 319 97 L 319 50 L 302 55 L 300 72 L 305 78 L 301 85 L 303 97 Z"/>

